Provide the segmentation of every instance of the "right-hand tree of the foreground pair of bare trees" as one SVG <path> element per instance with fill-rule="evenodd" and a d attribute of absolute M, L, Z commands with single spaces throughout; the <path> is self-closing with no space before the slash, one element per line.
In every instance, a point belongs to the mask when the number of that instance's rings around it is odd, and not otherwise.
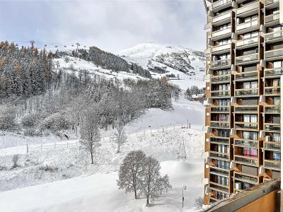
<path fill-rule="evenodd" d="M 172 188 L 168 175 L 161 177 L 159 171 L 158 160 L 152 156 L 147 157 L 142 171 L 143 179 L 139 187 L 139 192 L 146 197 L 146 206 L 149 206 L 150 199 L 155 200 Z"/>

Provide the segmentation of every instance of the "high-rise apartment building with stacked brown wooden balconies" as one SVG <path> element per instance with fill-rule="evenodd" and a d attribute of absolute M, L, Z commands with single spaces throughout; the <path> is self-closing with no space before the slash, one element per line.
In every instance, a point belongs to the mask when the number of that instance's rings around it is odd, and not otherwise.
<path fill-rule="evenodd" d="M 204 202 L 280 175 L 282 0 L 207 0 Z"/>

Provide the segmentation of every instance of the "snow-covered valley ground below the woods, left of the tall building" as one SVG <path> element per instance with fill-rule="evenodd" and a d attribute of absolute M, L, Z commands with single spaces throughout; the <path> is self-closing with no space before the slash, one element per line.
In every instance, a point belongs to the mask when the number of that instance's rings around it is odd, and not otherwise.
<path fill-rule="evenodd" d="M 195 198 L 203 194 L 204 108 L 184 98 L 173 107 L 150 109 L 127 125 L 129 141 L 120 154 L 108 139 L 112 131 L 103 131 L 96 165 L 89 165 L 88 154 L 76 146 L 26 153 L 26 143 L 65 142 L 59 136 L 0 135 L 0 211 L 181 211 L 183 185 L 184 211 L 193 211 Z M 187 126 L 187 119 L 192 129 L 180 127 Z M 71 142 L 76 141 L 71 134 Z M 138 149 L 161 162 L 161 173 L 169 175 L 173 186 L 149 208 L 145 199 L 134 200 L 116 184 L 122 159 Z M 16 153 L 21 166 L 11 168 Z M 185 154 L 187 160 L 178 159 Z"/>

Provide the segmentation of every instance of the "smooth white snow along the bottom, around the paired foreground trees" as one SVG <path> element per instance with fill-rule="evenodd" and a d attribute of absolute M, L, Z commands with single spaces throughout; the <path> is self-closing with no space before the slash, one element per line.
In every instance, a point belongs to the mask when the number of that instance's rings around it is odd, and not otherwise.
<path fill-rule="evenodd" d="M 145 199 L 133 198 L 117 189 L 117 172 L 83 175 L 0 193 L 1 211 L 192 211 L 192 196 L 201 196 L 202 160 L 161 163 L 173 189 L 149 208 Z M 192 170 L 194 170 L 192 174 Z M 185 204 L 182 210 L 182 187 Z M 21 194 L 21 195 L 19 195 Z M 13 201 L 11 201 L 13 200 Z"/>

